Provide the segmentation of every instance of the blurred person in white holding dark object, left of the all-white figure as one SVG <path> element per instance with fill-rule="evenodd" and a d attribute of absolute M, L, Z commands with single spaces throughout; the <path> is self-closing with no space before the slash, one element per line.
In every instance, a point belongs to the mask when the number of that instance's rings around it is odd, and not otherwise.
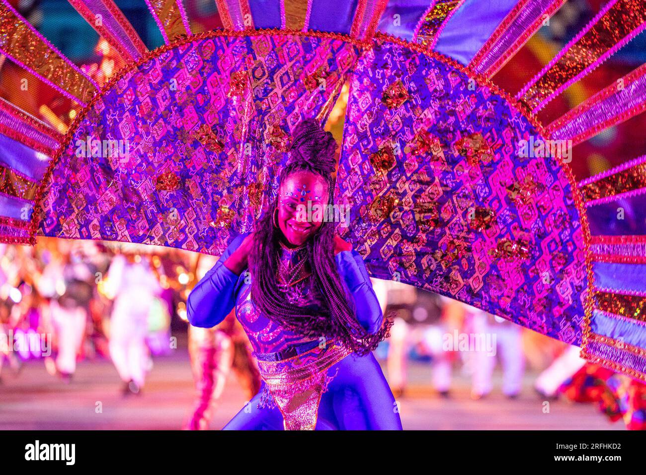
<path fill-rule="evenodd" d="M 49 320 L 57 355 L 54 364 L 45 359 L 50 374 L 68 383 L 76 372 L 76 360 L 83 346 L 94 297 L 95 268 L 86 261 L 85 246 L 79 241 L 61 241 L 37 281 L 41 296 L 50 298 Z M 45 314 L 47 318 L 47 314 Z"/>

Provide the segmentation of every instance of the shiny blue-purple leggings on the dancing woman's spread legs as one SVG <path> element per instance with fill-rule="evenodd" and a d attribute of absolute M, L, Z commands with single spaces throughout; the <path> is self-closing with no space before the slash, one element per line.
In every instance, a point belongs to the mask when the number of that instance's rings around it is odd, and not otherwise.
<path fill-rule="evenodd" d="M 399 409 L 373 354 L 346 356 L 328 370 L 337 376 L 318 406 L 317 430 L 401 430 Z M 259 409 L 265 383 L 224 430 L 283 430 L 278 407 Z"/>

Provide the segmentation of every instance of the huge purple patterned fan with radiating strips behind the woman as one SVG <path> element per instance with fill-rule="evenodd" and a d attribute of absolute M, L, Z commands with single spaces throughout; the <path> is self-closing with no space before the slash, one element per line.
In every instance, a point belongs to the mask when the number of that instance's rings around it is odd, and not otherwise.
<path fill-rule="evenodd" d="M 204 19 L 151 0 L 165 45 L 149 51 L 112 0 L 70 0 L 110 51 L 79 68 L 2 0 L 2 54 L 73 119 L 0 101 L 0 240 L 219 254 L 271 202 L 295 126 L 325 123 L 348 83 L 336 199 L 372 276 L 646 379 L 646 157 L 570 166 L 572 147 L 645 110 L 646 65 L 550 109 L 640 34 L 646 8 L 610 0 L 535 77 L 497 76 L 563 3 L 216 0 Z"/>

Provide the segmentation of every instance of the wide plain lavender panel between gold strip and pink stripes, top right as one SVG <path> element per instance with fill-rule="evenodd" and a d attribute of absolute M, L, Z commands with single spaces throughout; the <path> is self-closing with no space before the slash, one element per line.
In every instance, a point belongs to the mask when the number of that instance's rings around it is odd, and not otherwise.
<path fill-rule="evenodd" d="M 468 65 L 518 0 L 466 0 L 442 30 L 435 51 Z"/>

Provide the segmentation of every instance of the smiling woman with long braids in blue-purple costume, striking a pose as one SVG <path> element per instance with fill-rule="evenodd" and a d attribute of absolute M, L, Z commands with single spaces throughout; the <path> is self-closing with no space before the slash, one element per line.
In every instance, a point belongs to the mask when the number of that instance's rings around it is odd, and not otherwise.
<path fill-rule="evenodd" d="M 401 430 L 371 353 L 390 322 L 359 253 L 322 216 L 333 209 L 336 147 L 316 121 L 297 126 L 275 201 L 189 295 L 196 327 L 236 307 L 258 360 L 261 389 L 224 429 Z"/>

